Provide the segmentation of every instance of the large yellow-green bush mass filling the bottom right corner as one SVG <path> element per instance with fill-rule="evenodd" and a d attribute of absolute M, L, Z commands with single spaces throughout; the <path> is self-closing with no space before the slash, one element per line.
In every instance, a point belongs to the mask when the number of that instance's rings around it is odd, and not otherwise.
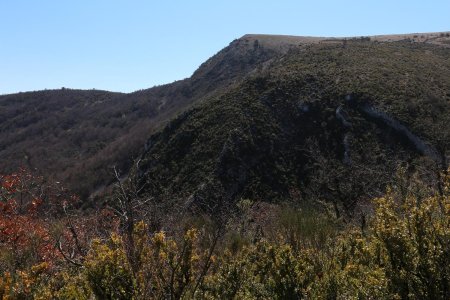
<path fill-rule="evenodd" d="M 369 232 L 348 232 L 335 243 L 313 298 L 448 299 L 450 198 L 405 201 L 393 191 L 376 201 Z"/>

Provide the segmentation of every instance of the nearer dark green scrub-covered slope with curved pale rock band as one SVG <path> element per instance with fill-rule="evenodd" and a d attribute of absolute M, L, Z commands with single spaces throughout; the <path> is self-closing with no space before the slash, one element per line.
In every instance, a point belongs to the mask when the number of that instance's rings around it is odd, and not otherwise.
<path fill-rule="evenodd" d="M 399 164 L 445 169 L 449 101 L 449 48 L 301 45 L 152 136 L 140 169 L 166 199 L 319 198 L 351 215 Z"/>

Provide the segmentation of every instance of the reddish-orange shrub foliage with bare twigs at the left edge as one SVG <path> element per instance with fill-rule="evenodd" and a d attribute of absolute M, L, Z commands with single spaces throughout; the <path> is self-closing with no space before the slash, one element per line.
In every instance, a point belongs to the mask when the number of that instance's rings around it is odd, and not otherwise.
<path fill-rule="evenodd" d="M 11 253 L 18 265 L 82 260 L 90 240 L 116 223 L 106 210 L 88 215 L 73 209 L 77 201 L 59 183 L 25 169 L 0 174 L 0 251 Z"/>

